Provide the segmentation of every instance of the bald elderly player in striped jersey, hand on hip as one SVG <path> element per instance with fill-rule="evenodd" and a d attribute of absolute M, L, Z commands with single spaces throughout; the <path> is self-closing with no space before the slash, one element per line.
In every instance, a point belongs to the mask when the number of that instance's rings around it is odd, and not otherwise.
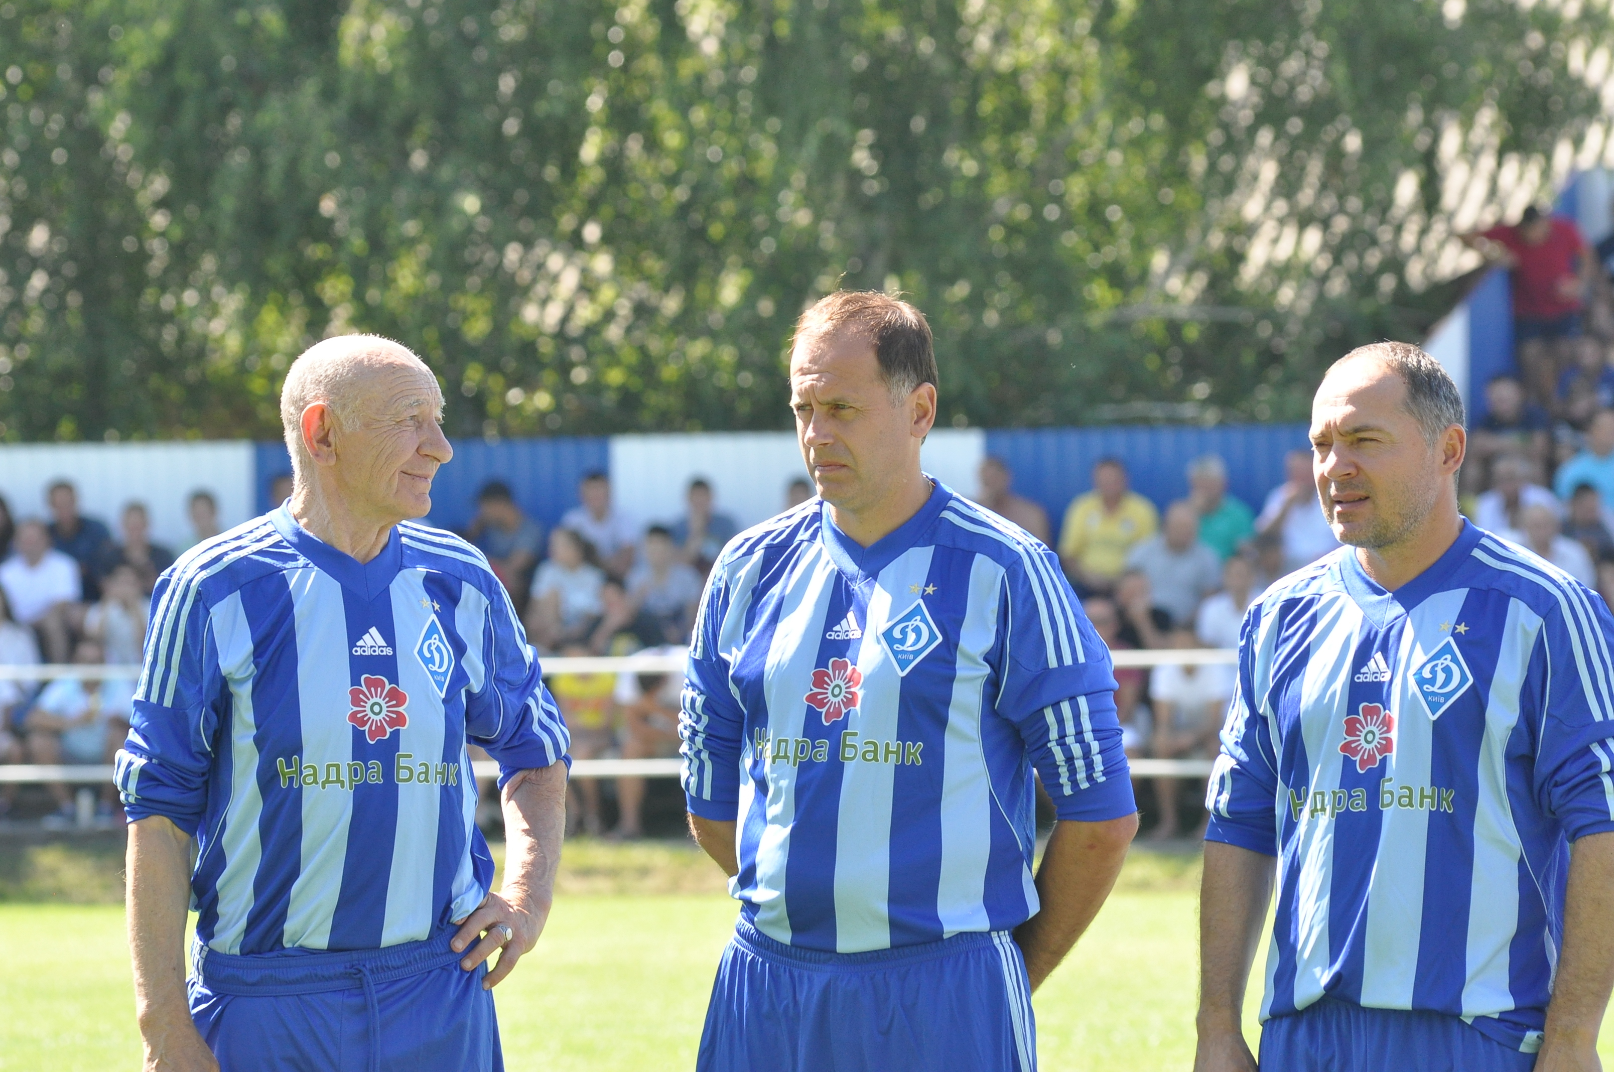
<path fill-rule="evenodd" d="M 281 391 L 291 500 L 157 584 L 116 767 L 148 1072 L 504 1067 L 489 990 L 549 914 L 568 741 L 487 560 L 408 520 L 441 418 L 397 342 L 320 342 Z"/>

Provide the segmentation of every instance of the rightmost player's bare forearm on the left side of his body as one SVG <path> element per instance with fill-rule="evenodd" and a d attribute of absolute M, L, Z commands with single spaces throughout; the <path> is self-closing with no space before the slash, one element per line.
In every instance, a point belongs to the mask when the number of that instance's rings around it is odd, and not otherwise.
<path fill-rule="evenodd" d="M 1244 986 L 1267 919 L 1277 862 L 1206 841 L 1199 883 L 1199 1033 L 1243 1030 Z"/>

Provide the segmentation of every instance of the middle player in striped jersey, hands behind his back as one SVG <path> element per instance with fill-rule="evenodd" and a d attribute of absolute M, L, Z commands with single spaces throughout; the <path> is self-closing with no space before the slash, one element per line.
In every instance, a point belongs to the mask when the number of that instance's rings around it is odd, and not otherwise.
<path fill-rule="evenodd" d="M 1138 827 L 1109 652 L 1046 546 L 920 470 L 918 310 L 825 297 L 789 376 L 818 497 L 730 541 L 684 686 L 691 830 L 742 904 L 697 1067 L 1031 1072 L 1031 991 Z"/>

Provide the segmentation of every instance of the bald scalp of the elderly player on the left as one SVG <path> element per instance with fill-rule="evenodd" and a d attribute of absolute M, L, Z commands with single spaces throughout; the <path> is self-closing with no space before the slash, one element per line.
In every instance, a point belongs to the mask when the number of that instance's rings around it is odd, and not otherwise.
<path fill-rule="evenodd" d="M 308 449 L 303 444 L 302 417 L 315 404 L 324 404 L 342 428 L 360 418 L 360 399 L 378 376 L 418 373 L 423 391 L 442 404 L 437 381 L 423 360 L 407 345 L 381 336 L 352 334 L 323 339 L 292 362 L 281 387 L 281 428 L 292 455 L 292 470 L 305 473 Z"/>

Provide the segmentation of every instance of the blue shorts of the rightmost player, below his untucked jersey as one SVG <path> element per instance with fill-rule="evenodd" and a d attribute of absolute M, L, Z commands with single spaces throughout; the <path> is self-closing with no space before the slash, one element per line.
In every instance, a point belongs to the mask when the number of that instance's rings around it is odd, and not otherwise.
<path fill-rule="evenodd" d="M 1323 998 L 1261 1027 L 1262 1072 L 1530 1072 L 1509 1049 L 1443 1012 L 1364 1009 Z"/>

